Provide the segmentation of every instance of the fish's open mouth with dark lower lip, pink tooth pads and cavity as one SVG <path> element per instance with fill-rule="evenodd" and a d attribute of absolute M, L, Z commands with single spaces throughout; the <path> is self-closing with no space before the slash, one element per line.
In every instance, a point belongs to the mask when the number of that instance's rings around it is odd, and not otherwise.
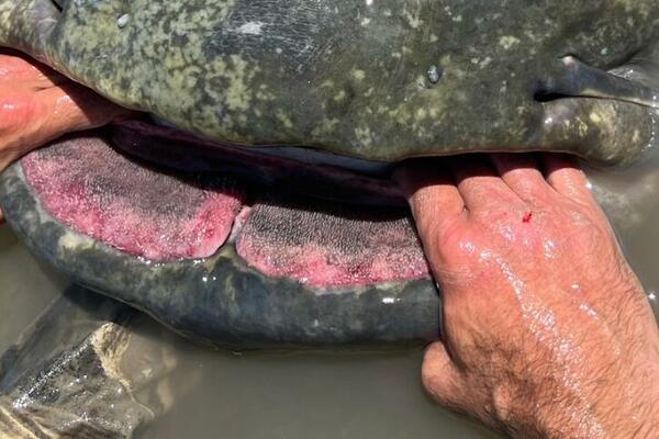
<path fill-rule="evenodd" d="M 192 170 L 168 166 L 183 162 Z M 437 335 L 423 249 L 381 176 L 126 121 L 25 156 L 2 175 L 0 204 L 27 246 L 74 281 L 197 341 L 247 349 Z"/>

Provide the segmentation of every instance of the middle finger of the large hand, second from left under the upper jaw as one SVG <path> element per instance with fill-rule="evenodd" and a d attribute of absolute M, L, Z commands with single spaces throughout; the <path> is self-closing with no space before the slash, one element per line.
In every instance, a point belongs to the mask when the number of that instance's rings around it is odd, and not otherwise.
<path fill-rule="evenodd" d="M 449 167 L 469 212 L 491 203 L 518 204 L 522 201 L 482 156 L 456 157 L 449 161 Z"/>

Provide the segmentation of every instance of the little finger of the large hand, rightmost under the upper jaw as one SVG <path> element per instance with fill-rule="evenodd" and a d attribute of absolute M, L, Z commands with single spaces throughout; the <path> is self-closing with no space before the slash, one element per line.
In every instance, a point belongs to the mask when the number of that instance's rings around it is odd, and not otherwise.
<path fill-rule="evenodd" d="M 541 156 L 547 182 L 560 194 L 588 205 L 596 205 L 590 184 L 577 161 L 566 155 Z"/>

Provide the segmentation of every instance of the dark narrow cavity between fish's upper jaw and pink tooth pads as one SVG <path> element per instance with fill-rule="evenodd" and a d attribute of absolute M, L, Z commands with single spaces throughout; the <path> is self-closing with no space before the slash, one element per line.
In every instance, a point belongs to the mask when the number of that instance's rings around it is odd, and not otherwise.
<path fill-rule="evenodd" d="M 206 142 L 177 128 L 145 121 L 112 125 L 109 136 L 123 153 L 156 164 L 159 169 L 238 176 L 258 185 L 356 204 L 406 205 L 386 172 L 373 176 L 278 157 L 264 154 L 264 149 L 272 148 Z"/>

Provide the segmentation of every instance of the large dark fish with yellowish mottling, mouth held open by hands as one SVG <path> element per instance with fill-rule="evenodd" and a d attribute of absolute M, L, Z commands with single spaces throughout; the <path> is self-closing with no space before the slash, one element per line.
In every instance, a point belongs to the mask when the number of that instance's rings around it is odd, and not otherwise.
<path fill-rule="evenodd" d="M 18 4 L 0 0 L 0 44 L 143 114 L 5 171 L 10 224 L 79 283 L 212 344 L 435 338 L 393 164 L 619 165 L 655 136 L 649 0 Z"/>

